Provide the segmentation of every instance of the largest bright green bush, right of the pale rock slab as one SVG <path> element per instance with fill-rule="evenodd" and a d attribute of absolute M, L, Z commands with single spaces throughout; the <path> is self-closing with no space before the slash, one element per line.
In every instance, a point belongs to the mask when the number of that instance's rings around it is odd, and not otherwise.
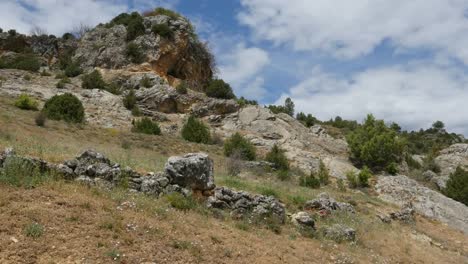
<path fill-rule="evenodd" d="M 402 158 L 404 142 L 385 126 L 383 120 L 376 120 L 372 115 L 368 115 L 364 124 L 349 133 L 346 139 L 351 160 L 359 166 L 382 170 Z"/>

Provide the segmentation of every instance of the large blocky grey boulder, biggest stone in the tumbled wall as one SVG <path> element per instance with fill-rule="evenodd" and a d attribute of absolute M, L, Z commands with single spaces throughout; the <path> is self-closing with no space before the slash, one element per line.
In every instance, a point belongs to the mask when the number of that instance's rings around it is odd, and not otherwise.
<path fill-rule="evenodd" d="M 213 190 L 213 160 L 205 153 L 190 153 L 181 157 L 170 157 L 165 172 L 171 183 L 196 191 Z"/>

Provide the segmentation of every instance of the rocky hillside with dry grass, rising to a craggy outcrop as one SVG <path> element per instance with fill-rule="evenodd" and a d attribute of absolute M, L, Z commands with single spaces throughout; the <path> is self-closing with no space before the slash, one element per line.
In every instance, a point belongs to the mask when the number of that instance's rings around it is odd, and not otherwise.
<path fill-rule="evenodd" d="M 445 196 L 466 144 L 400 153 L 353 186 L 368 164 L 345 129 L 246 103 L 214 72 L 169 10 L 81 38 L 0 33 L 0 262 L 468 262 L 468 207 Z M 55 118 L 57 95 L 83 120 Z M 182 137 L 190 119 L 209 140 Z M 237 133 L 254 159 L 226 155 Z"/>

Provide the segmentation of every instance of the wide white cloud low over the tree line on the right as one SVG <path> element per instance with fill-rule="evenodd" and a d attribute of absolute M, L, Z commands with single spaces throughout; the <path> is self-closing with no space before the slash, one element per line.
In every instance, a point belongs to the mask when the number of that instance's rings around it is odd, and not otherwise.
<path fill-rule="evenodd" d="M 316 68 L 310 78 L 292 87 L 297 111 L 319 119 L 335 116 L 362 121 L 368 113 L 408 129 L 429 127 L 442 120 L 450 130 L 468 134 L 468 76 L 434 62 L 381 67 L 339 78 Z"/>

